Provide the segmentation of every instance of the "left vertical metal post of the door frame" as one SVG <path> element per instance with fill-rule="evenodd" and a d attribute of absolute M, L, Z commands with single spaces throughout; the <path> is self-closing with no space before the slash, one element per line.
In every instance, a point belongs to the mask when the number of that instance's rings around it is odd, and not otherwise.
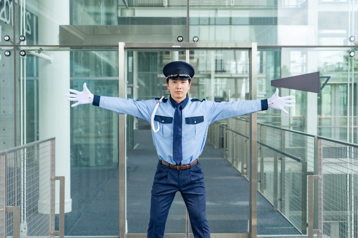
<path fill-rule="evenodd" d="M 127 97 L 125 43 L 118 43 L 118 97 Z M 126 202 L 126 114 L 118 115 L 118 163 L 119 163 L 119 237 L 125 238 L 127 220 Z"/>

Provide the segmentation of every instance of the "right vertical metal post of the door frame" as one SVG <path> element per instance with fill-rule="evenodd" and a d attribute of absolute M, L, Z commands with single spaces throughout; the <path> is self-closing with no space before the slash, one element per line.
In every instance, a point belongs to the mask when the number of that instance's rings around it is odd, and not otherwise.
<path fill-rule="evenodd" d="M 249 50 L 250 78 L 249 100 L 256 100 L 257 91 L 257 43 L 252 43 Z M 257 237 L 257 114 L 249 115 L 249 235 Z"/>

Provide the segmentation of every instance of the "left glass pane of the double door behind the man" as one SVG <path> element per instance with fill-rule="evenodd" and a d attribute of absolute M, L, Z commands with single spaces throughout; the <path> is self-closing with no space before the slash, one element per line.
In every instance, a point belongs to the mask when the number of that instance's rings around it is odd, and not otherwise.
<path fill-rule="evenodd" d="M 185 51 L 127 51 L 127 97 L 149 100 L 164 95 L 168 98 L 162 70 L 173 60 L 185 61 Z M 151 188 L 158 164 L 150 123 L 127 116 L 127 144 L 128 233 L 146 234 Z M 185 204 L 180 193 L 176 193 L 169 210 L 165 233 L 185 233 Z"/>

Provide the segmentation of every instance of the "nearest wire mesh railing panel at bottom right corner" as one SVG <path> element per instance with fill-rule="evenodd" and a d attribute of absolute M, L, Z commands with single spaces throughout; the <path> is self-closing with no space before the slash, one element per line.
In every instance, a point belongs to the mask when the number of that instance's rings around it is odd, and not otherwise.
<path fill-rule="evenodd" d="M 321 138 L 324 237 L 358 236 L 358 145 Z"/>

